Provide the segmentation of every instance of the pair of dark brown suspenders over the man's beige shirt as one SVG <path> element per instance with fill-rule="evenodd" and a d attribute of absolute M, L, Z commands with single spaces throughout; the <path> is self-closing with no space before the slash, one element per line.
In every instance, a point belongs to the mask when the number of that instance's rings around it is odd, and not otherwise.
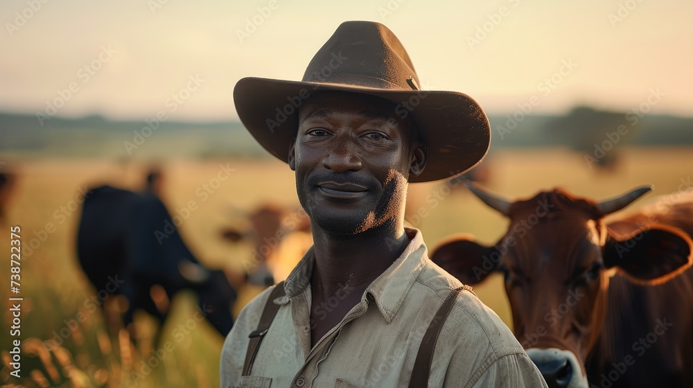
<path fill-rule="evenodd" d="M 453 306 L 455 306 L 455 301 L 457 301 L 457 298 L 459 298 L 459 295 L 462 294 L 464 290 L 472 291 L 472 288 L 468 285 L 463 285 L 460 288 L 455 288 L 455 290 L 450 291 L 443 305 L 440 306 L 435 317 L 433 317 L 431 323 L 428 325 L 428 330 L 426 330 L 426 334 L 423 335 L 423 340 L 421 340 L 421 345 L 419 346 L 419 353 L 416 355 L 412 379 L 409 382 L 410 388 L 428 387 L 428 376 L 430 374 L 430 367 L 433 362 L 433 353 L 436 343 L 438 342 L 438 336 L 443 329 L 443 324 L 448 318 L 448 315 L 450 315 L 450 311 L 453 310 Z M 260 317 L 258 329 L 248 336 L 250 342 L 248 343 L 247 353 L 245 353 L 245 364 L 243 366 L 243 375 L 241 376 L 250 376 L 250 371 L 252 370 L 253 362 L 255 361 L 255 356 L 258 353 L 260 344 L 272 324 L 274 315 L 277 315 L 279 305 L 274 304 L 272 301 L 279 297 L 283 297 L 285 294 L 283 281 L 279 282 L 277 287 L 270 293 L 270 298 L 267 299 L 265 309 Z"/>

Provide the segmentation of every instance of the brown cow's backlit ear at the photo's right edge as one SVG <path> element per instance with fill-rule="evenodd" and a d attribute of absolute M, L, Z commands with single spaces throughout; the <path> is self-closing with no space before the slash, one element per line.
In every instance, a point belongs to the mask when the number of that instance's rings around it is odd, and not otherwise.
<path fill-rule="evenodd" d="M 635 283 L 657 284 L 687 270 L 693 262 L 692 251 L 690 236 L 666 225 L 641 228 L 625 237 L 610 230 L 604 265 L 617 267 Z"/>

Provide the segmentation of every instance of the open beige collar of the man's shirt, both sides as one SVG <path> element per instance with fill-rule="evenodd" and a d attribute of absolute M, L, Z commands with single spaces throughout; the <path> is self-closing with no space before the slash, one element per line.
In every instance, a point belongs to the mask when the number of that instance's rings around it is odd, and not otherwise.
<path fill-rule="evenodd" d="M 364 295 L 371 294 L 389 324 L 399 310 L 407 292 L 416 281 L 421 270 L 426 265 L 428 251 L 423 243 L 423 236 L 419 229 L 405 228 L 405 233 L 410 238 L 409 245 L 404 252 L 390 265 L 385 272 L 380 274 L 367 288 Z M 313 247 L 301 258 L 284 283 L 286 297 L 275 299 L 275 303 L 285 304 L 289 299 L 304 292 L 310 284 L 310 276 L 313 274 L 315 263 L 315 251 Z M 363 299 L 362 299 L 363 301 Z"/>

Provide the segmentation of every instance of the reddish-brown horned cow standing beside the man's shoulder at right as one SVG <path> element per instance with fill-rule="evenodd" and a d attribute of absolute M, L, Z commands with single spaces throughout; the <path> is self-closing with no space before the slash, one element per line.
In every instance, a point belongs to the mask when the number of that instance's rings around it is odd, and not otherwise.
<path fill-rule="evenodd" d="M 549 387 L 693 387 L 693 201 L 606 223 L 650 188 L 597 203 L 468 186 L 510 226 L 493 247 L 451 238 L 432 261 L 472 285 L 505 274 L 515 335 Z"/>

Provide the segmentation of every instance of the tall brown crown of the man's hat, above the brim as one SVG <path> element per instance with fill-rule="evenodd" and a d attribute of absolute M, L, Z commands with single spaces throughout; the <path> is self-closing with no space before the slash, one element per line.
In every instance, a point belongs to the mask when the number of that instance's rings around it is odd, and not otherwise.
<path fill-rule="evenodd" d="M 345 21 L 315 54 L 304 82 L 418 90 L 419 77 L 402 43 L 383 24 Z"/>

